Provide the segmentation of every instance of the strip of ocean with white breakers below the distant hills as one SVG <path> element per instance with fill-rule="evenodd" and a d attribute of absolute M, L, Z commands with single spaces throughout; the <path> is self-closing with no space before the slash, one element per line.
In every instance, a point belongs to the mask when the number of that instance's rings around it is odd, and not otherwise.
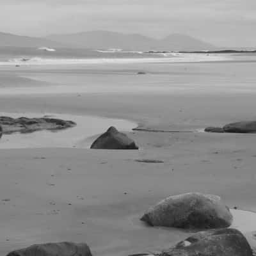
<path fill-rule="evenodd" d="M 51 65 L 90 63 L 175 63 L 230 61 L 255 52 L 159 52 L 122 49 L 51 49 L 47 47 L 0 47 L 0 65 Z M 243 59 L 243 58 L 242 58 Z"/>

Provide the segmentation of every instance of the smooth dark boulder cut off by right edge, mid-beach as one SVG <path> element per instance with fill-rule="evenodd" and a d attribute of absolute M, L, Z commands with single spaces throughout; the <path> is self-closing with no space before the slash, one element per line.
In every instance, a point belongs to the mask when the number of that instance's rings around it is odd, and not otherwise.
<path fill-rule="evenodd" d="M 256 132 L 256 121 L 244 121 L 227 124 L 223 127 L 225 132 L 250 133 Z"/>

